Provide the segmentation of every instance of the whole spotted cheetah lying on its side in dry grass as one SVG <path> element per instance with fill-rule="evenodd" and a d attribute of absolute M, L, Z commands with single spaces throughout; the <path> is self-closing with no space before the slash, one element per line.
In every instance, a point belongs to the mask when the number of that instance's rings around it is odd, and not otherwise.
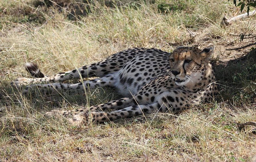
<path fill-rule="evenodd" d="M 217 94 L 215 76 L 210 63 L 214 47 L 176 48 L 172 53 L 155 48 L 130 48 L 90 65 L 44 75 L 35 64 L 26 63 L 34 78 L 17 78 L 11 84 L 29 89 L 72 90 L 115 87 L 124 98 L 76 110 L 52 110 L 47 115 L 70 116 L 69 122 L 103 123 L 156 112 L 186 110 L 205 103 Z M 72 78 L 98 77 L 76 84 L 56 83 Z M 45 81 L 47 84 L 36 84 Z"/>

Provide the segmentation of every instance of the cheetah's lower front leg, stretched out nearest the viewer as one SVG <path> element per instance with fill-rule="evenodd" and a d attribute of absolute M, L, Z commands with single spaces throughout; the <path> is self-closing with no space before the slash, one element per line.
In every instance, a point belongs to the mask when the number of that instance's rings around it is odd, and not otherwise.
<path fill-rule="evenodd" d="M 132 101 L 132 98 L 127 98 L 124 102 L 126 104 L 120 103 L 119 109 L 111 112 L 105 112 L 105 110 L 108 108 L 108 105 L 112 105 L 113 103 L 116 103 L 117 107 L 117 105 L 119 105 L 117 100 L 111 101 L 106 104 L 90 107 L 90 111 L 87 108 L 78 109 L 74 113 L 68 112 L 67 114 L 71 114 L 73 116 L 73 118 L 70 118 L 69 122 L 71 122 L 72 124 L 84 124 L 90 121 L 94 123 L 102 123 L 114 121 L 116 119 L 138 116 L 142 114 L 151 114 L 158 111 L 177 112 L 187 109 L 190 104 L 198 104 L 202 96 L 198 93 L 185 92 L 180 89 L 171 89 L 169 91 L 161 93 L 161 95 L 158 95 L 157 97 L 154 97 L 154 99 L 150 101 L 151 103 L 145 103 L 145 100 L 148 100 L 147 98 L 138 98 L 137 95 L 135 95 L 134 97 L 136 97 L 137 99 L 136 102 L 135 100 Z M 132 103 L 132 105 L 130 105 L 129 102 Z M 95 110 L 101 111 L 97 112 Z"/>

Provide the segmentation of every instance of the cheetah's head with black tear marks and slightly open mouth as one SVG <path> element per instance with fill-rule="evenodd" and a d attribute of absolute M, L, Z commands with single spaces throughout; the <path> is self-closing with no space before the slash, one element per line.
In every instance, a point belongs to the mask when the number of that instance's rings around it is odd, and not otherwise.
<path fill-rule="evenodd" d="M 169 63 L 172 68 L 171 77 L 176 85 L 195 85 L 199 83 L 205 73 L 210 73 L 207 68 L 211 66 L 210 57 L 214 47 L 178 47 L 169 56 Z M 210 68 L 209 68 L 210 69 Z"/>

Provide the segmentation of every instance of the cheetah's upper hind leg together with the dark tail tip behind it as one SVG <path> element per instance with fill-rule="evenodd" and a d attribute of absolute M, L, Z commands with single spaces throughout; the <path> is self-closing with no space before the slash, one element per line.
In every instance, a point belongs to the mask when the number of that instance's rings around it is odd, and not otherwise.
<path fill-rule="evenodd" d="M 36 84 L 40 82 L 59 82 L 80 77 L 104 77 L 107 74 L 112 74 L 120 70 L 125 65 L 125 63 L 135 57 L 136 54 L 131 51 L 133 50 L 127 49 L 125 51 L 111 55 L 100 62 L 85 65 L 74 70 L 58 73 L 50 77 L 44 75 L 36 64 L 26 63 L 26 70 L 31 74 L 32 77 L 35 78 L 17 78 L 11 82 L 11 85 L 14 87 L 20 87 L 21 85 Z"/>

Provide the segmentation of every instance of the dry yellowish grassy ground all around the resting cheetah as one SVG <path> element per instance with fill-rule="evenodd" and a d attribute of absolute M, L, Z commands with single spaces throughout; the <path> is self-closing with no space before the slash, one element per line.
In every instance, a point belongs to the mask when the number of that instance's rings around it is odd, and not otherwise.
<path fill-rule="evenodd" d="M 228 0 L 176 1 L 0 1 L 0 161 L 254 161 L 256 136 L 244 122 L 256 121 L 254 17 L 220 26 L 224 15 L 240 14 Z M 196 34 L 190 38 L 187 28 Z M 95 91 L 34 91 L 24 97 L 10 86 L 26 77 L 25 62 L 52 75 L 100 61 L 126 48 L 215 45 L 212 62 L 217 99 L 178 114 L 157 113 L 72 126 L 49 118 L 53 109 L 70 110 L 121 96 Z M 29 77 L 29 76 L 28 76 Z M 75 82 L 75 81 L 70 81 Z"/>

